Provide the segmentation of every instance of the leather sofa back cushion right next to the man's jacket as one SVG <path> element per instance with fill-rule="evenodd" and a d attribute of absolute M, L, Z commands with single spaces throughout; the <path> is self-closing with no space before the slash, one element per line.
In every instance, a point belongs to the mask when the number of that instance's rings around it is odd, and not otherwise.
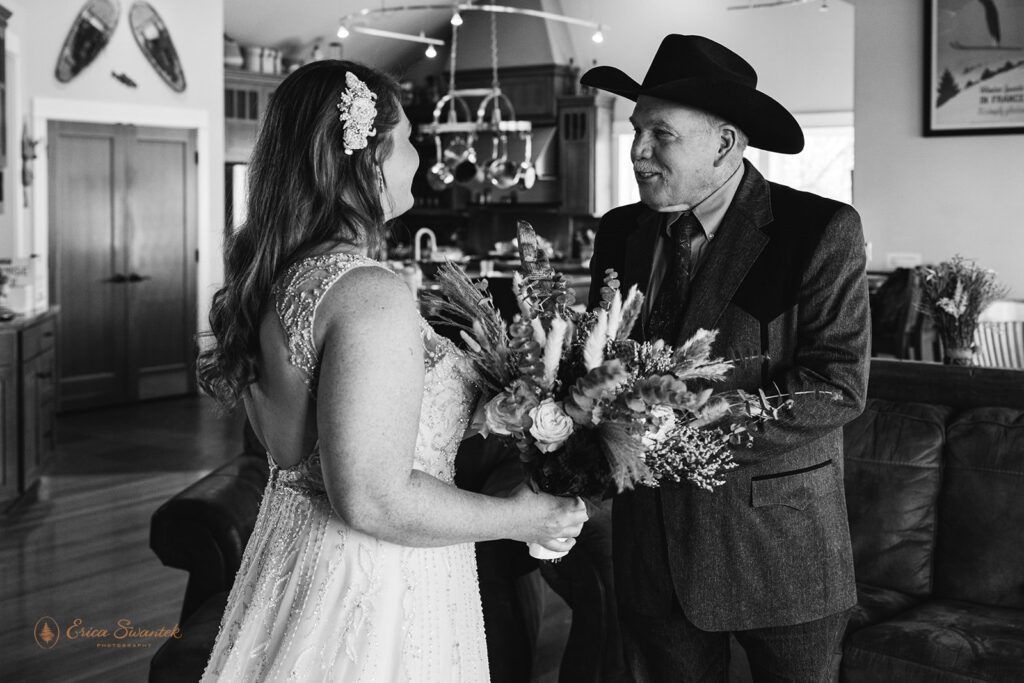
<path fill-rule="evenodd" d="M 950 410 L 870 398 L 844 428 L 847 511 L 857 582 L 925 596 Z"/>

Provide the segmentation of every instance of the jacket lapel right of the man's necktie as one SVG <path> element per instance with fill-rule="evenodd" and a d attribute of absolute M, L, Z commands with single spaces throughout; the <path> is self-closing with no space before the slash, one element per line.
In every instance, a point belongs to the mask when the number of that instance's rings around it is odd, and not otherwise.
<path fill-rule="evenodd" d="M 715 240 L 709 245 L 708 257 L 690 285 L 689 301 L 682 313 L 683 324 L 677 345 L 684 343 L 700 328 L 715 328 L 768 243 L 768 236 L 760 229 L 772 220 L 768 182 L 746 160 L 743 160 L 743 179 L 722 218 Z"/>

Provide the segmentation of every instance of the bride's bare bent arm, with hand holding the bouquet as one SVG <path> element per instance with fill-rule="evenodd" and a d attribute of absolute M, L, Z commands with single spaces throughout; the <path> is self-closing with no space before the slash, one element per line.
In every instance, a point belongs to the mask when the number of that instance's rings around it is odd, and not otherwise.
<path fill-rule="evenodd" d="M 409 288 L 359 268 L 317 310 L 323 354 L 316 424 L 328 496 L 353 528 L 409 546 L 515 539 L 556 548 L 586 519 L 567 499 L 456 488 L 413 469 L 423 344 Z M 568 547 L 566 544 L 564 547 Z"/>

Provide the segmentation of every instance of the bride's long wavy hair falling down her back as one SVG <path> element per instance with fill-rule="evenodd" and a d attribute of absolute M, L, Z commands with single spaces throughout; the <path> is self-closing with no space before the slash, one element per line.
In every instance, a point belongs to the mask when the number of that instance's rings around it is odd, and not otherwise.
<path fill-rule="evenodd" d="M 377 135 L 351 155 L 337 108 L 348 72 L 377 95 Z M 379 252 L 387 229 L 381 163 L 394 146 L 399 102 L 393 78 L 341 60 L 302 67 L 270 97 L 249 165 L 247 219 L 225 240 L 224 286 L 197 359 L 200 386 L 224 407 L 257 378 L 260 319 L 285 269 L 324 245 Z"/>

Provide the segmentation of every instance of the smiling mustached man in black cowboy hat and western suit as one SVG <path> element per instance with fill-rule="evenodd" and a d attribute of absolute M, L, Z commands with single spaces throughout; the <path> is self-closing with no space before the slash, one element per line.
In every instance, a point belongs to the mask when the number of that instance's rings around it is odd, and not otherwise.
<path fill-rule="evenodd" d="M 729 634 L 755 680 L 827 677 L 856 603 L 843 494 L 845 423 L 863 409 L 868 351 L 864 240 L 850 206 L 768 182 L 751 144 L 796 154 L 796 120 L 757 90 L 739 55 L 670 35 L 643 83 L 610 67 L 584 85 L 636 102 L 640 203 L 609 211 L 591 261 L 647 294 L 640 339 L 681 344 L 717 329 L 725 385 L 795 399 L 734 450 L 714 492 L 688 484 L 614 499 L 624 647 L 638 681 L 724 680 Z"/>

